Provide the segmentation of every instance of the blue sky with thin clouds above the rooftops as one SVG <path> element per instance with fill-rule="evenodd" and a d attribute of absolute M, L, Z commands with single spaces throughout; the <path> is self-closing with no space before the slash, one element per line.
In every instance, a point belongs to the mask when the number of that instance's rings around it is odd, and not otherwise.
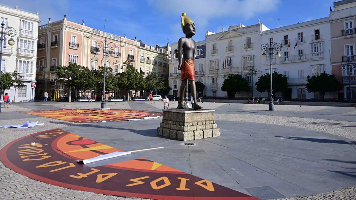
<path fill-rule="evenodd" d="M 40 24 L 48 18 L 52 21 L 63 19 L 82 23 L 128 38 L 137 37 L 146 44 L 177 42 L 183 37 L 180 15 L 187 15 L 195 22 L 195 41 L 205 39 L 205 32 L 226 31 L 229 26 L 240 23 L 245 26 L 258 23 L 268 28 L 286 26 L 298 22 L 329 16 L 334 0 L 2 0 L 2 3 L 40 12 Z M 10 24 L 9 24 L 10 25 Z M 11 26 L 11 25 L 10 25 Z"/>

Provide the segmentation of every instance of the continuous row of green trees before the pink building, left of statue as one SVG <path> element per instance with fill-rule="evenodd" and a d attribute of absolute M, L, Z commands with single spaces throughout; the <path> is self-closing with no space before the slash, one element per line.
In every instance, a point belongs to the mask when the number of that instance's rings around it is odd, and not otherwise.
<path fill-rule="evenodd" d="M 131 62 L 125 62 L 122 73 L 114 73 L 112 68 L 106 67 L 105 90 L 109 92 L 124 90 L 158 90 L 167 93 L 172 89 L 168 80 L 159 80 L 157 73 L 148 74 L 146 77 L 133 67 Z M 69 102 L 71 101 L 71 91 L 77 89 L 83 95 L 86 91 L 96 90 L 98 95 L 103 93 L 104 67 L 99 70 L 90 70 L 87 67 L 69 63 L 68 66 L 58 66 L 57 76 L 59 82 L 67 84 L 69 87 Z"/>

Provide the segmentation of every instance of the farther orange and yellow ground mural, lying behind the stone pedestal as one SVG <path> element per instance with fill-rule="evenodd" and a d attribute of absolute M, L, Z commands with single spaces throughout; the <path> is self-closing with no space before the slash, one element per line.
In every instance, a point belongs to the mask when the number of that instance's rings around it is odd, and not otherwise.
<path fill-rule="evenodd" d="M 146 110 L 127 110 L 127 109 L 60 109 L 60 110 L 33 110 L 21 111 L 22 113 L 48 117 L 52 119 L 76 122 L 76 123 L 95 123 L 95 122 L 114 122 L 122 120 L 145 119 L 145 117 L 162 116 L 161 112 Z"/>

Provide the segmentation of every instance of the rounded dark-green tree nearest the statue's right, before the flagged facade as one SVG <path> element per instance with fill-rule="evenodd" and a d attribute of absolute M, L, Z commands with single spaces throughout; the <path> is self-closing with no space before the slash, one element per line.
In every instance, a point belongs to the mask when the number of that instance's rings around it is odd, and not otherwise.
<path fill-rule="evenodd" d="M 240 74 L 230 74 L 227 79 L 224 80 L 221 90 L 227 92 L 227 96 L 234 97 L 237 92 L 249 91 L 250 86 L 248 80 L 243 78 Z"/>

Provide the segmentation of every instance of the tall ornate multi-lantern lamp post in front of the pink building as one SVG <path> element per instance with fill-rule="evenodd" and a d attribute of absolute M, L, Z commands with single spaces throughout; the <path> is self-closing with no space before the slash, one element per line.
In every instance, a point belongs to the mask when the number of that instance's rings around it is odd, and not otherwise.
<path fill-rule="evenodd" d="M 101 54 L 100 48 L 103 48 L 103 52 L 104 52 L 104 85 L 103 85 L 103 96 L 101 97 L 101 105 L 100 105 L 101 108 L 106 108 L 106 101 L 105 101 L 106 56 L 110 54 L 111 57 L 114 57 L 115 56 L 114 51 L 109 51 L 109 50 L 114 50 L 116 47 L 116 45 L 113 42 L 106 43 L 108 42 L 106 38 L 104 42 L 105 43 L 101 41 L 96 42 L 96 45 L 98 46 L 96 55 L 99 56 Z"/>

